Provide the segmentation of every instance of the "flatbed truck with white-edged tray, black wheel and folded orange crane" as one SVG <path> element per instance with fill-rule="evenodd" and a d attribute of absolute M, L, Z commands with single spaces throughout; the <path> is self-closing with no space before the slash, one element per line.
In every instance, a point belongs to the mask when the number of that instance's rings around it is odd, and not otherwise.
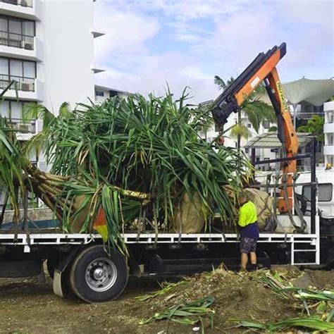
<path fill-rule="evenodd" d="M 237 112 L 247 96 L 261 83 L 273 104 L 278 119 L 278 138 L 283 146 L 282 183 L 276 216 L 279 226 L 260 233 L 258 260 L 262 266 L 271 263 L 298 266 L 326 265 L 333 261 L 332 232 L 321 235 L 317 211 L 315 154 L 297 154 L 297 135 L 292 125 L 280 86 L 276 64 L 285 55 L 285 43 L 261 53 L 244 72 L 214 101 L 216 123 L 223 126 L 230 113 Z M 315 147 L 315 146 L 314 146 Z M 311 158 L 309 215 L 296 210 L 295 184 L 297 159 Z M 261 161 L 257 162 L 261 163 Z M 283 181 L 283 179 L 285 181 Z M 273 194 L 276 197 L 276 193 Z M 330 229 L 329 229 L 330 230 Z M 117 298 L 125 289 L 128 277 L 185 275 L 210 270 L 224 263 L 236 268 L 239 263 L 239 236 L 236 230 L 214 230 L 206 233 L 124 233 L 128 254 L 111 251 L 97 234 L 73 234 L 61 230 L 0 230 L 0 277 L 38 275 L 43 261 L 53 278 L 54 292 L 63 296 L 75 292 L 86 302 L 105 302 Z M 322 252 L 321 244 L 326 245 Z M 329 254 L 329 256 L 328 256 Z M 323 259 L 325 259 L 323 263 Z M 329 259 L 329 260 L 328 260 Z M 328 262 L 329 261 L 329 262 Z"/>

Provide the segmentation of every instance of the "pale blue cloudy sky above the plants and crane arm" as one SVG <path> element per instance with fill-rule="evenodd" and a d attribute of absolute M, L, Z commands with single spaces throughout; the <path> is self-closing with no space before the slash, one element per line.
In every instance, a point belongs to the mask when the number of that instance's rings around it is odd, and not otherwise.
<path fill-rule="evenodd" d="M 280 80 L 334 77 L 334 0 L 98 0 L 96 83 L 193 103 L 214 99 L 214 75 L 237 77 L 259 54 L 287 43 Z"/>

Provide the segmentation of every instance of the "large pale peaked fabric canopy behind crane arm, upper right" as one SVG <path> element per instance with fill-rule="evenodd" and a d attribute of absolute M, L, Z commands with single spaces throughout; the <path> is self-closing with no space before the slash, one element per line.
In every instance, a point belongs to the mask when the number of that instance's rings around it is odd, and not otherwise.
<path fill-rule="evenodd" d="M 333 78 L 326 80 L 311 80 L 302 78 L 283 84 L 285 98 L 290 104 L 297 105 L 307 101 L 314 106 L 321 106 L 334 96 Z"/>

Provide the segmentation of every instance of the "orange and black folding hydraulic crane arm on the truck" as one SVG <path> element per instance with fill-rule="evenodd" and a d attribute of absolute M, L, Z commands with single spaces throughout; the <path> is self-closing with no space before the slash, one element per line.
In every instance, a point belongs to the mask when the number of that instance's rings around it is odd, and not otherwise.
<path fill-rule="evenodd" d="M 242 103 L 249 97 L 254 89 L 264 82 L 268 97 L 273 104 L 276 113 L 278 139 L 283 146 L 283 157 L 292 157 L 297 155 L 298 139 L 295 128 L 292 124 L 290 111 L 285 102 L 282 85 L 276 65 L 286 53 L 286 44 L 282 43 L 280 47 L 273 47 L 266 53 L 261 52 L 252 63 L 233 81 L 223 93 L 214 101 L 212 114 L 216 124 L 222 128 L 227 122 L 231 113 L 237 113 Z M 296 171 L 296 160 L 285 161 L 283 163 L 283 175 L 287 189 L 282 190 L 280 197 L 287 194 L 288 201 L 280 199 L 280 212 L 286 212 L 288 206 L 292 207 L 292 175 Z"/>

